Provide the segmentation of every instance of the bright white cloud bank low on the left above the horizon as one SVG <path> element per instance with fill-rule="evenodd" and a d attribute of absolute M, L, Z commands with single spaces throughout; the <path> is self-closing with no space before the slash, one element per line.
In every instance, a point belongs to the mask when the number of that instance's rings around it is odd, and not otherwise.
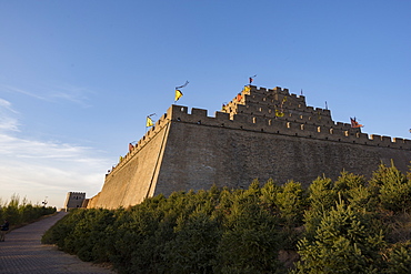
<path fill-rule="evenodd" d="M 48 196 L 49 205 L 63 206 L 69 191 L 86 192 L 90 197 L 104 181 L 110 161 L 101 151 L 57 141 L 31 140 L 19 131 L 17 111 L 0 99 L 0 201 L 14 193 L 40 203 Z"/>

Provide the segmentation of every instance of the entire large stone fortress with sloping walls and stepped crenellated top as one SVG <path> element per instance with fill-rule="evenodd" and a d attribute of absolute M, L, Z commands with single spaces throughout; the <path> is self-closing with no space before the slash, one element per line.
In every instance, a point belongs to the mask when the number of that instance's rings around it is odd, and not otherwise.
<path fill-rule="evenodd" d="M 334 122 L 330 110 L 308 106 L 303 95 L 248 85 L 214 116 L 171 105 L 106 175 L 88 207 L 129 206 L 212 184 L 248 187 L 254 179 L 309 185 L 323 174 L 337 179 L 343 170 L 370 176 L 391 161 L 408 171 L 410 140 L 369 136 Z"/>

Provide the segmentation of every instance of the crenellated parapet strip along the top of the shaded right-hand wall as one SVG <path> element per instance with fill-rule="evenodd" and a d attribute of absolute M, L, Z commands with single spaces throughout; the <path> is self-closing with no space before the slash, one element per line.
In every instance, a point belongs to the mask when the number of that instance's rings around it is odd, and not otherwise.
<path fill-rule="evenodd" d="M 353 129 L 350 124 L 341 122 L 315 124 L 307 123 L 307 121 L 290 121 L 244 113 L 230 115 L 230 113 L 219 111 L 215 112 L 214 116 L 208 116 L 207 110 L 192 109 L 191 113 L 189 113 L 188 108 L 182 105 L 172 105 L 168 110 L 168 115 L 173 122 L 411 150 L 411 140 L 399 138 L 391 139 L 390 136 L 380 136 L 375 134 L 369 136 L 367 133 L 361 133 L 360 129 Z"/>

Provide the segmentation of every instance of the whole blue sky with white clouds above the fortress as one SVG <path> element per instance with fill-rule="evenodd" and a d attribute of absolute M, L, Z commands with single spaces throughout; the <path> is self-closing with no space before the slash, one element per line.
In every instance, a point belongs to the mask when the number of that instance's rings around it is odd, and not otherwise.
<path fill-rule="evenodd" d="M 410 1 L 0 0 L 0 199 L 61 207 L 178 102 L 213 115 L 250 75 L 334 121 L 411 139 Z"/>

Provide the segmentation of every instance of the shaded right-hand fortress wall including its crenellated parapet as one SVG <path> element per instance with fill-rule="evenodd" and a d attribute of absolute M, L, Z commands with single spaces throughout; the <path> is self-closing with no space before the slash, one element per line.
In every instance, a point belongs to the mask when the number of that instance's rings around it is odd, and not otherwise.
<path fill-rule="evenodd" d="M 237 114 L 229 120 L 228 113 L 217 112 L 207 118 L 197 109 L 189 114 L 177 105 L 169 114 L 172 123 L 154 194 L 209 189 L 213 183 L 247 187 L 255 177 L 308 185 L 322 174 L 337 179 L 342 170 L 370 176 L 381 161 L 390 164 L 391 159 L 407 172 L 411 161 L 409 140 L 369 139 L 343 123 L 318 132 L 315 125 L 293 122 L 270 125 L 261 116 Z M 399 144 L 408 149 L 395 149 Z"/>

